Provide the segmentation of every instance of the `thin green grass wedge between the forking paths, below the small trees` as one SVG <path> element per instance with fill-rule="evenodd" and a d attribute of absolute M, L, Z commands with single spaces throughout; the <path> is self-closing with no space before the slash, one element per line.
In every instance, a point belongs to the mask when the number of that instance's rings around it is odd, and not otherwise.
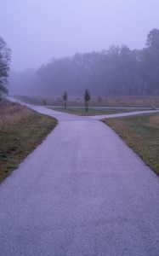
<path fill-rule="evenodd" d="M 85 112 L 84 108 L 50 108 L 55 111 L 60 111 L 63 113 L 74 113 L 77 115 L 100 115 L 100 114 L 111 114 L 111 113 L 126 113 L 134 111 L 144 111 L 144 108 L 89 108 L 88 113 Z"/>

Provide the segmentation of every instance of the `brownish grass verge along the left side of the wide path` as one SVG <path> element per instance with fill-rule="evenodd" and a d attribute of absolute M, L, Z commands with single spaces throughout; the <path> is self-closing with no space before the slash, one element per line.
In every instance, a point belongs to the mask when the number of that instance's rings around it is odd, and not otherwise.
<path fill-rule="evenodd" d="M 18 104 L 0 105 L 0 182 L 54 129 L 56 119 Z"/>

